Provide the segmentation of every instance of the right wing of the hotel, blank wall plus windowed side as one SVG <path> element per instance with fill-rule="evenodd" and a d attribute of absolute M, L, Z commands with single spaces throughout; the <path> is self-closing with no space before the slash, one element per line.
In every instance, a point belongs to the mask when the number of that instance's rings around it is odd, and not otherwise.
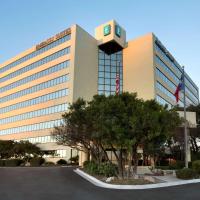
<path fill-rule="evenodd" d="M 125 91 L 136 91 L 139 97 L 156 99 L 169 108 L 176 105 L 174 93 L 183 69 L 153 33 L 129 41 L 123 59 Z M 184 74 L 186 105 L 198 105 L 199 89 Z M 179 106 L 183 107 L 183 94 Z"/>

